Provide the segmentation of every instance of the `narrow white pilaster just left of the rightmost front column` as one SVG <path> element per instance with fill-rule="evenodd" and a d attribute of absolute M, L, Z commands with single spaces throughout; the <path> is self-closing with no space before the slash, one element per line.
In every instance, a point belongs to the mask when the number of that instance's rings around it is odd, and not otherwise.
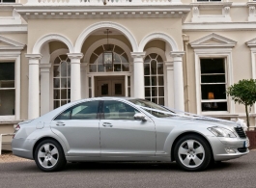
<path fill-rule="evenodd" d="M 174 108 L 174 81 L 173 81 L 173 62 L 165 62 L 166 67 L 166 90 L 167 90 L 167 107 Z"/>

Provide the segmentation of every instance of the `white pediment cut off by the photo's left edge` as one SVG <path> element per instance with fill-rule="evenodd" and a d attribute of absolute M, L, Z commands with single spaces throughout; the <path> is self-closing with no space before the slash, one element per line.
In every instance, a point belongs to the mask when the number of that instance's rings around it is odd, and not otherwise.
<path fill-rule="evenodd" d="M 0 36 L 0 49 L 1 50 L 21 50 L 23 49 L 25 44 L 19 43 L 14 40 L 10 40 L 6 37 Z"/>

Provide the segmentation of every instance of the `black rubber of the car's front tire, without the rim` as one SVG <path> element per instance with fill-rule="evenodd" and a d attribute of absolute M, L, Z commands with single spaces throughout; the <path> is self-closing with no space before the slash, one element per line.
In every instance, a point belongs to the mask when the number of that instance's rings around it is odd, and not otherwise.
<path fill-rule="evenodd" d="M 199 142 L 203 146 L 203 148 L 205 149 L 204 161 L 203 161 L 203 163 L 201 165 L 199 165 L 196 168 L 185 167 L 185 165 L 180 161 L 180 158 L 179 158 L 179 154 L 178 154 L 179 153 L 179 148 L 187 140 L 195 140 L 195 141 Z M 191 172 L 192 171 L 203 171 L 203 170 L 205 170 L 211 164 L 211 161 L 212 161 L 212 149 L 211 149 L 209 143 L 204 138 L 202 138 L 201 136 L 193 135 L 193 134 L 185 135 L 185 137 L 182 137 L 177 142 L 177 144 L 176 144 L 176 146 L 174 148 L 174 156 L 175 156 L 176 162 L 185 171 L 191 171 Z"/>

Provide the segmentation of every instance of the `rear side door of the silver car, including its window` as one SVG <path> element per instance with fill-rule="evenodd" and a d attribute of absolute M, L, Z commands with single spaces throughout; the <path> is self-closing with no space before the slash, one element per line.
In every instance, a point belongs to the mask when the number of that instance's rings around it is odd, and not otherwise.
<path fill-rule="evenodd" d="M 100 156 L 99 101 L 87 101 L 67 109 L 51 121 L 51 129 L 68 145 L 68 154 Z"/>

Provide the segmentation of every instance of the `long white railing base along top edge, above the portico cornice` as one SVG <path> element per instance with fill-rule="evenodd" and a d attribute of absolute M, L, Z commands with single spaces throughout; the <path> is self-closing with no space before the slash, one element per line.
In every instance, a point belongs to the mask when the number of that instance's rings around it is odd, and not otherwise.
<path fill-rule="evenodd" d="M 124 6 L 124 5 L 170 5 L 181 4 L 181 0 L 28 0 L 26 5 L 88 5 L 88 6 Z"/>

